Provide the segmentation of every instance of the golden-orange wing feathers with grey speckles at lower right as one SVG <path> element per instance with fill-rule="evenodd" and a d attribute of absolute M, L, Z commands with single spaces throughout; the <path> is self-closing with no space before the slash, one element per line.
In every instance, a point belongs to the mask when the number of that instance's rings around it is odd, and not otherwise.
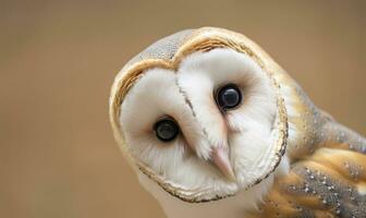
<path fill-rule="evenodd" d="M 251 217 L 366 217 L 366 156 L 344 147 L 320 147 L 294 162 Z"/>

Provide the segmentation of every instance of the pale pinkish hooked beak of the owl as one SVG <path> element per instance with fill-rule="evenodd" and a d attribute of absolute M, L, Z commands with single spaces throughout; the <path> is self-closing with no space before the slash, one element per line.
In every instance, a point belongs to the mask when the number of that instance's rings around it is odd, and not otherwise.
<path fill-rule="evenodd" d="M 211 161 L 231 181 L 235 181 L 234 171 L 230 165 L 229 153 L 222 146 L 215 147 L 211 152 Z"/>

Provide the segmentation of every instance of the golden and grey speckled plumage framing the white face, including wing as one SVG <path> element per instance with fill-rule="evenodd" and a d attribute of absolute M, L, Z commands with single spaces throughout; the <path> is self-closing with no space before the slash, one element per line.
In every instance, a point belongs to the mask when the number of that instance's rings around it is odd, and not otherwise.
<path fill-rule="evenodd" d="M 279 125 L 283 126 L 280 128 L 276 148 L 278 160 L 270 166 L 267 174 L 251 185 L 260 183 L 273 172 L 283 154 L 289 157 L 291 169 L 288 174 L 274 178 L 269 193 L 258 204 L 259 209 L 253 208 L 245 213 L 246 216 L 366 217 L 365 138 L 314 106 L 296 82 L 255 43 L 222 28 L 204 27 L 163 38 L 132 59 L 115 77 L 110 98 L 111 124 L 132 166 L 137 166 L 162 189 L 181 199 L 206 202 L 190 198 L 194 196 L 194 191 L 185 193 L 171 186 L 137 161 L 125 145 L 119 116 L 125 95 L 146 69 L 176 70 L 184 57 L 215 48 L 230 48 L 253 58 L 278 86 L 280 96 L 278 107 L 282 116 Z"/>

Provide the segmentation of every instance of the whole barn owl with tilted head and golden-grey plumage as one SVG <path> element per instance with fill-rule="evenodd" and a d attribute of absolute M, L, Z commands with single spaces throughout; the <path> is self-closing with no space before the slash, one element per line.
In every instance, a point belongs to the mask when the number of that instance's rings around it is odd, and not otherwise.
<path fill-rule="evenodd" d="M 115 76 L 110 121 L 170 218 L 366 217 L 366 141 L 247 37 L 182 31 Z"/>

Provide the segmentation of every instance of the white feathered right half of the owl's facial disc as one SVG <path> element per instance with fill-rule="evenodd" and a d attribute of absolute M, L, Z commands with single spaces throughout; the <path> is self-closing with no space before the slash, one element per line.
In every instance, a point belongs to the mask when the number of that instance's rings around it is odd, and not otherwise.
<path fill-rule="evenodd" d="M 245 55 L 215 49 L 187 57 L 180 65 L 178 81 L 211 145 L 230 144 L 231 161 L 240 186 L 253 182 L 248 180 L 251 173 L 249 178 L 257 179 L 253 166 L 263 161 L 263 153 L 271 143 L 277 108 L 265 72 Z M 215 87 L 229 83 L 241 87 L 244 99 L 241 107 L 221 114 L 212 93 Z"/>

